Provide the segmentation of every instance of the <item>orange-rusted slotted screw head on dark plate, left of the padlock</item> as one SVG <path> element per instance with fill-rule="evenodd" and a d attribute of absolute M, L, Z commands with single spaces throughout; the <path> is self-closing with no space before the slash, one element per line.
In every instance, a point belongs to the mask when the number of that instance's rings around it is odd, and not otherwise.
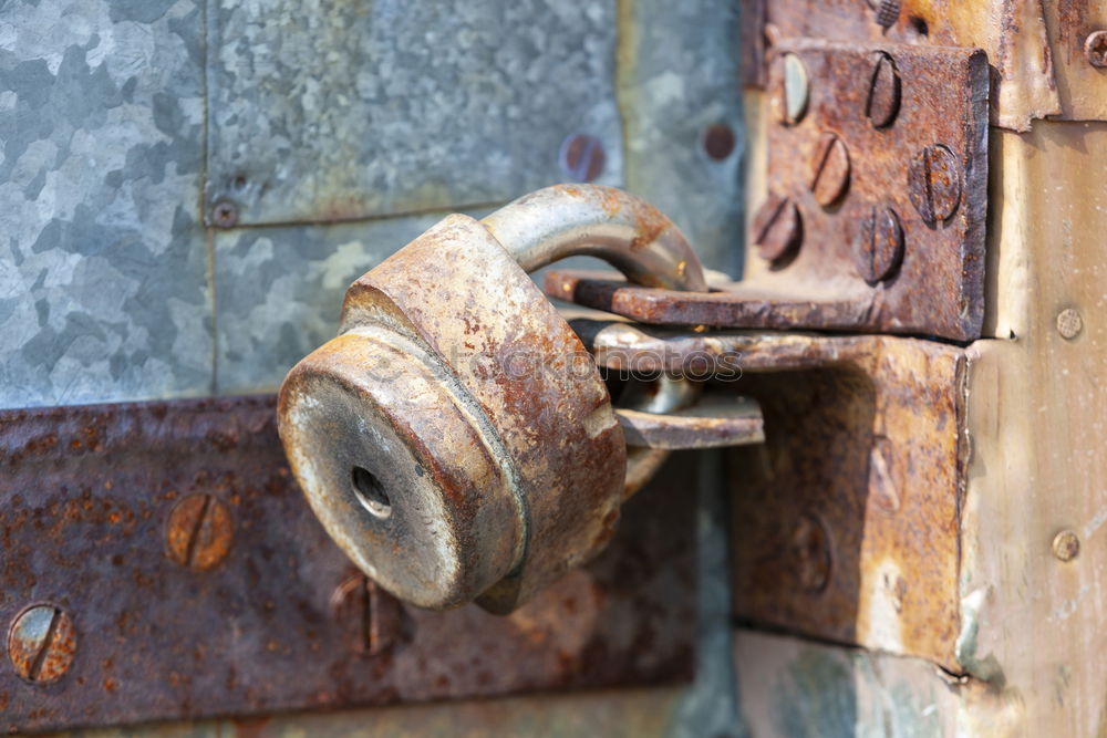
<path fill-rule="evenodd" d="M 230 510 L 211 495 L 190 495 L 177 502 L 165 527 L 165 553 L 194 571 L 214 568 L 230 551 Z"/>

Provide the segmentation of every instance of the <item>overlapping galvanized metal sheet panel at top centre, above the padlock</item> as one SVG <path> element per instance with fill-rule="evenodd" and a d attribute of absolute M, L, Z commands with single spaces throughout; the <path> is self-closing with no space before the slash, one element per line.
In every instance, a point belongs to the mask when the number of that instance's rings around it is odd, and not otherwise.
<path fill-rule="evenodd" d="M 573 133 L 622 179 L 613 0 L 219 0 L 207 53 L 206 201 L 239 224 L 509 200 Z"/>

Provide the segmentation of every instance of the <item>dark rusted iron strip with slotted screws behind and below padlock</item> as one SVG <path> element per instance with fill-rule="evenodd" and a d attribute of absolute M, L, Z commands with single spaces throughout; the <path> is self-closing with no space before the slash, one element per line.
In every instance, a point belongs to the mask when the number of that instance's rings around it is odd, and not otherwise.
<path fill-rule="evenodd" d="M 665 491 L 686 489 L 687 461 L 671 462 L 623 506 L 593 563 L 511 615 L 391 603 L 374 619 L 382 593 L 350 583 L 354 570 L 308 510 L 277 438 L 272 397 L 4 410 L 0 623 L 7 634 L 30 605 L 56 607 L 75 648 L 50 684 L 21 678 L 4 655 L 0 726 L 686 678 L 694 506 Z M 174 514 L 194 497 L 208 500 L 199 512 Z M 184 557 L 168 543 L 172 520 L 192 526 Z"/>

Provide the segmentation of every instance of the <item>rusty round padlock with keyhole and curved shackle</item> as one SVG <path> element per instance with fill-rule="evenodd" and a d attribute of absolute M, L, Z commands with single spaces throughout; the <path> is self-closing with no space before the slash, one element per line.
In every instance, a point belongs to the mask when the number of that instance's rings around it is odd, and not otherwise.
<path fill-rule="evenodd" d="M 510 612 L 606 545 L 645 476 L 628 472 L 594 362 L 527 276 L 576 253 L 640 283 L 705 288 L 653 207 L 551 187 L 484 221 L 449 216 L 363 276 L 338 337 L 281 387 L 281 438 L 312 509 L 405 602 Z M 759 439 L 756 412 L 735 412 L 731 441 Z M 687 445 L 672 424 L 660 435 Z M 656 455 L 632 458 L 655 468 Z"/>

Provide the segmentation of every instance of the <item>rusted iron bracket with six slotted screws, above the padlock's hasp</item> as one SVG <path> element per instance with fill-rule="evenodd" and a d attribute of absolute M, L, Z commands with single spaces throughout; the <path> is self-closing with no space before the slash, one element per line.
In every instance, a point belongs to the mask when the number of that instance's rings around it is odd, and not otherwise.
<path fill-rule="evenodd" d="M 979 336 L 987 201 L 983 53 L 818 41 L 783 41 L 776 50 L 769 199 L 751 239 L 770 247 L 763 254 L 774 260 L 752 256 L 744 281 L 707 293 L 567 272 L 549 273 L 547 292 L 648 323 Z M 799 97 L 790 104 L 786 69 L 789 94 Z M 883 82 L 870 101 L 873 80 Z M 873 124 L 886 118 L 891 123 Z"/>

